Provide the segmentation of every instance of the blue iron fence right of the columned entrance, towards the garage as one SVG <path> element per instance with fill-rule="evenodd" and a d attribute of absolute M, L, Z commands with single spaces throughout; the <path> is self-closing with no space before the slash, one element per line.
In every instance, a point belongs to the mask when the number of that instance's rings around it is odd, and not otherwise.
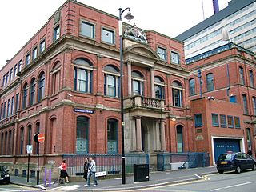
<path fill-rule="evenodd" d="M 210 166 L 208 153 L 162 153 L 157 162 L 160 171 Z"/>

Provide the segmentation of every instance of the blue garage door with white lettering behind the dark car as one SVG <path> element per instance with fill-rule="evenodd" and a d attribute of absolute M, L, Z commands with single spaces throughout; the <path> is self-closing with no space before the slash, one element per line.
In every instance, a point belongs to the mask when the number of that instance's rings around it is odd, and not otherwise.
<path fill-rule="evenodd" d="M 226 153 L 227 151 L 233 151 L 233 152 L 240 151 L 240 140 L 239 139 L 214 138 L 215 162 L 216 162 L 219 154 Z"/>

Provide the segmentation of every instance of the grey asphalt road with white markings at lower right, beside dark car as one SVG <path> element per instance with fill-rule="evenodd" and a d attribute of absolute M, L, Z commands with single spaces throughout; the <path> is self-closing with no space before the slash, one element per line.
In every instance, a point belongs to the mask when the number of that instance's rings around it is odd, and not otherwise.
<path fill-rule="evenodd" d="M 138 191 L 138 190 L 137 190 Z M 227 172 L 203 176 L 201 180 L 168 186 L 140 189 L 140 191 L 169 192 L 241 192 L 256 191 L 256 171 L 244 171 L 241 174 Z"/>

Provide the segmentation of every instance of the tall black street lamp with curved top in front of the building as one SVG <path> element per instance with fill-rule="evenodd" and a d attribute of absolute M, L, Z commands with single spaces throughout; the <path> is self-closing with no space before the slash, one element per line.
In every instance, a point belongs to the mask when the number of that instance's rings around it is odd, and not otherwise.
<path fill-rule="evenodd" d="M 119 20 L 118 20 L 118 26 L 119 26 L 119 40 L 120 40 L 120 84 L 121 84 L 121 124 L 122 124 L 122 184 L 126 184 L 126 157 L 125 157 L 125 137 L 124 137 L 124 118 L 123 118 L 123 86 L 122 86 L 122 76 L 123 76 L 123 63 L 122 63 L 122 14 L 128 10 L 128 13 L 124 18 L 127 20 L 131 20 L 134 18 L 132 14 L 130 14 L 130 8 L 127 7 L 126 9 L 122 10 L 122 8 L 119 8 Z"/>

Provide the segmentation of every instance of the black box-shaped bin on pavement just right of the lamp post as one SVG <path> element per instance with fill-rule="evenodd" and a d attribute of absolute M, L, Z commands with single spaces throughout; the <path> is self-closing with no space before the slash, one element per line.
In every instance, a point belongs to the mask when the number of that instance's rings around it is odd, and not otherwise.
<path fill-rule="evenodd" d="M 149 164 L 134 164 L 134 182 L 146 182 L 149 180 Z"/>

